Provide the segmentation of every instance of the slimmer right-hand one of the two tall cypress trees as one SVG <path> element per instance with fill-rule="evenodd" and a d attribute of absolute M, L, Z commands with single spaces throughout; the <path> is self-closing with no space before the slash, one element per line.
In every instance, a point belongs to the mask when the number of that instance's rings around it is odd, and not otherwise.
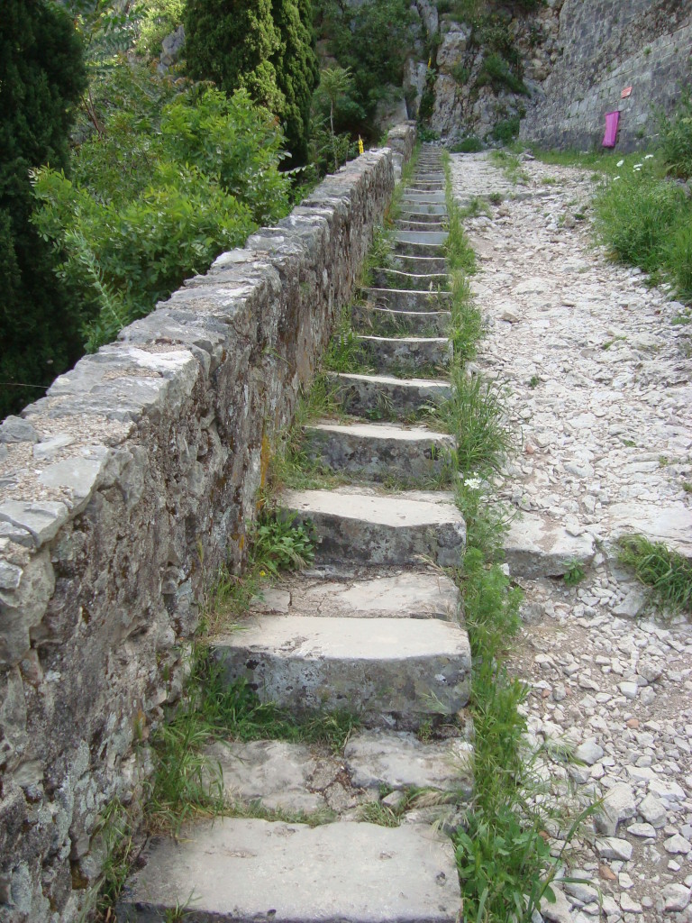
<path fill-rule="evenodd" d="M 280 113 L 285 126 L 292 166 L 307 162 L 310 106 L 319 82 L 310 0 L 273 0 L 272 14 L 280 32 L 280 49 L 274 56 L 279 88 L 285 105 Z"/>

